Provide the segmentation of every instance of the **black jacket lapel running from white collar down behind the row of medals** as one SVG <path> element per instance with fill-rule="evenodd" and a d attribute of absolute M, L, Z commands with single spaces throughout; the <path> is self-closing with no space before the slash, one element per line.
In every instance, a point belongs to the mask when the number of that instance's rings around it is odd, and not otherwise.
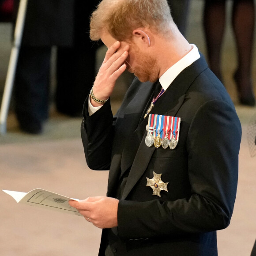
<path fill-rule="evenodd" d="M 207 63 L 203 57 L 199 60 L 196 60 L 191 66 L 184 69 L 173 83 L 168 87 L 166 92 L 158 99 L 154 108 L 151 110 L 151 113 L 162 114 L 168 116 L 175 116 L 177 111 L 180 109 L 182 103 L 184 102 L 186 91 L 196 77 L 206 69 Z M 182 121 L 182 120 L 181 120 Z M 137 181 L 143 175 L 144 171 L 147 169 L 148 163 L 150 162 L 151 156 L 156 150 L 154 146 L 147 147 L 145 144 L 145 137 L 147 136 L 146 126 L 147 118 L 144 119 L 139 127 L 133 134 L 133 137 L 136 138 L 139 142 L 139 149 L 136 152 L 136 156 L 133 159 L 130 159 L 132 162 L 132 167 L 124 188 L 123 195 L 121 199 L 124 200 L 132 188 L 135 186 Z M 182 124 L 181 124 L 182 125 Z M 125 151 L 124 153 L 128 154 L 129 152 Z"/>

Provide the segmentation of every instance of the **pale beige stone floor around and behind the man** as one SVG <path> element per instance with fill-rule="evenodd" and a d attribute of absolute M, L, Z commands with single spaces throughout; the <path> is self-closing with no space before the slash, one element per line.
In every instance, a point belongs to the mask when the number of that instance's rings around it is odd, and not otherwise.
<path fill-rule="evenodd" d="M 202 2 L 193 0 L 188 40 L 205 53 L 201 27 Z M 228 3 L 230 4 L 230 3 Z M 229 15 L 227 16 L 229 17 Z M 256 108 L 237 104 L 232 81 L 236 59 L 233 35 L 227 26 L 223 49 L 224 83 L 235 103 L 242 124 L 237 200 L 230 226 L 218 231 L 219 256 L 249 256 L 256 238 L 256 157 L 248 149 L 247 131 Z M 0 90 L 3 88 L 11 49 L 10 26 L 0 23 Z M 104 54 L 99 53 L 99 59 Z M 256 71 L 255 61 L 253 70 Z M 256 81 L 254 72 L 254 81 Z M 113 112 L 120 104 L 124 86 L 120 83 Z M 9 113 L 7 134 L 0 136 L 0 189 L 28 192 L 44 188 L 73 198 L 105 195 L 108 172 L 90 170 L 80 139 L 80 118 L 69 118 L 51 109 L 45 132 L 31 136 L 19 131 Z M 1 256 L 94 256 L 101 230 L 82 217 L 17 204 L 0 191 Z"/>

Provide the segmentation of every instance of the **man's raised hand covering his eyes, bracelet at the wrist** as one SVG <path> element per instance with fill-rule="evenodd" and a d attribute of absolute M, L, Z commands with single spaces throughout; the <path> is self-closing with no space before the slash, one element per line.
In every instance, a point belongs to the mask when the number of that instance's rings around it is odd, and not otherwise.
<path fill-rule="evenodd" d="M 129 45 L 121 47 L 119 41 L 109 47 L 94 81 L 93 93 L 96 98 L 106 100 L 112 94 L 118 77 L 126 69 L 124 61 L 128 57 L 128 50 Z M 90 102 L 95 107 L 101 105 L 92 99 L 90 99 Z"/>

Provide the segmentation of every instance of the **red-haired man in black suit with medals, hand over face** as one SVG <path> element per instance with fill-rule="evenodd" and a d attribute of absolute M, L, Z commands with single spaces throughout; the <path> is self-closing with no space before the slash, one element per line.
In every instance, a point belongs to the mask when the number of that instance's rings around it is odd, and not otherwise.
<path fill-rule="evenodd" d="M 103 0 L 90 37 L 108 51 L 81 133 L 88 166 L 109 169 L 108 192 L 70 204 L 103 229 L 99 255 L 216 256 L 241 142 L 225 88 L 166 0 Z M 113 118 L 109 97 L 125 69 L 136 78 Z"/>

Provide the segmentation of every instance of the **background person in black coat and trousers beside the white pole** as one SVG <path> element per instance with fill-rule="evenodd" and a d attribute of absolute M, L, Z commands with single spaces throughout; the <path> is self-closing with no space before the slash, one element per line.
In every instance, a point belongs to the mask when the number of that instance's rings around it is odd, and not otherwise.
<path fill-rule="evenodd" d="M 15 75 L 15 113 L 23 132 L 40 134 L 49 117 L 52 46 L 57 46 L 56 109 L 81 116 L 95 74 L 89 16 L 98 1 L 29 0 Z M 18 6 L 19 1 L 15 4 Z"/>

